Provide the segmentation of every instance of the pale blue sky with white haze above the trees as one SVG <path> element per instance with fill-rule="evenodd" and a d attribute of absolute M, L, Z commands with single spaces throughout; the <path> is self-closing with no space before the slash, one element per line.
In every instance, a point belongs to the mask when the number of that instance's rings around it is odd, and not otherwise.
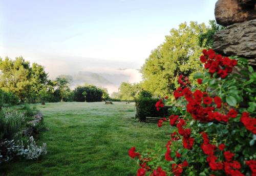
<path fill-rule="evenodd" d="M 50 76 L 139 69 L 181 22 L 214 19 L 216 0 L 0 0 L 0 56 L 23 56 Z M 110 70 L 110 69 L 109 69 Z"/>

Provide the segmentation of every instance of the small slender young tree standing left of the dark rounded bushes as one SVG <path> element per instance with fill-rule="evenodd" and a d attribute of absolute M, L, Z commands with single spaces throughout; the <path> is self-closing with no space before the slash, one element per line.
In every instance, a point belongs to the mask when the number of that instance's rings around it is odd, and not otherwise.
<path fill-rule="evenodd" d="M 65 77 L 57 77 L 55 80 L 57 89 L 59 90 L 59 93 L 60 93 L 61 102 L 63 102 L 63 97 L 67 97 L 70 92 L 70 88 L 69 88 L 70 81 L 71 80 Z"/>

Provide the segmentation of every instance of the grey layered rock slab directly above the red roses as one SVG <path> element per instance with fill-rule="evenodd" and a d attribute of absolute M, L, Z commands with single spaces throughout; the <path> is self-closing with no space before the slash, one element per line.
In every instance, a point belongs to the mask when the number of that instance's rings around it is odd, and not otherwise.
<path fill-rule="evenodd" d="M 232 24 L 214 35 L 214 51 L 226 56 L 256 58 L 256 19 Z"/>

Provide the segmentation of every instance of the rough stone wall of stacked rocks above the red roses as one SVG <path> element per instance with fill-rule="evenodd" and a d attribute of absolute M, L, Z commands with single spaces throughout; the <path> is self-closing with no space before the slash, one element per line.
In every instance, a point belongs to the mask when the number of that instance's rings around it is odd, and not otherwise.
<path fill-rule="evenodd" d="M 256 0 L 219 0 L 215 18 L 226 29 L 214 36 L 214 50 L 225 56 L 248 58 L 256 65 Z"/>

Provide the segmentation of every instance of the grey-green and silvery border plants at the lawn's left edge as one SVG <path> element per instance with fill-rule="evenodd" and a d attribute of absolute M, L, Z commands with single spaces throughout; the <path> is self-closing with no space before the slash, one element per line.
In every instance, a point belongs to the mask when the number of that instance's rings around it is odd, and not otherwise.
<path fill-rule="evenodd" d="M 37 159 L 46 155 L 46 143 L 37 146 L 33 136 L 23 135 L 36 110 L 20 105 L 0 110 L 0 164 L 14 158 Z M 39 128 L 37 127 L 39 132 Z"/>

